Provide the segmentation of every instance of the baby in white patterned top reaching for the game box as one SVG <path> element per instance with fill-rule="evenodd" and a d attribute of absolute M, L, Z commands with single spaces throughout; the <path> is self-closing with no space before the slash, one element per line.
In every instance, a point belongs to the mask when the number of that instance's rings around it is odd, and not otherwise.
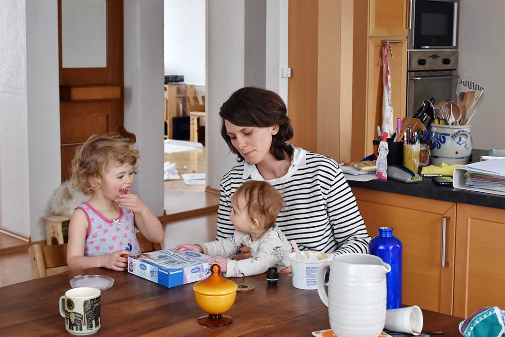
<path fill-rule="evenodd" d="M 247 181 L 231 198 L 231 222 L 235 233 L 227 239 L 186 244 L 178 251 L 192 250 L 212 255 L 209 264 L 218 264 L 226 277 L 261 274 L 269 267 L 281 270 L 291 265 L 291 246 L 275 224 L 284 201 L 275 188 L 264 181 Z M 250 248 L 252 257 L 233 260 L 242 246 Z"/>

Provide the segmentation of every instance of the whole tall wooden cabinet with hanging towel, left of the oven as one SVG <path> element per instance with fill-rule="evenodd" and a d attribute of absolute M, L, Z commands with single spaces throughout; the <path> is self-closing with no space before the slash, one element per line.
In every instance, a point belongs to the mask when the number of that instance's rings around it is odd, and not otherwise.
<path fill-rule="evenodd" d="M 372 140 L 377 138 L 377 126 L 382 125 L 381 49 L 386 40 L 390 41 L 393 53 L 393 58 L 389 57 L 393 129 L 396 118 L 406 116 L 408 9 L 407 0 L 355 1 L 352 160 L 376 152 Z"/>

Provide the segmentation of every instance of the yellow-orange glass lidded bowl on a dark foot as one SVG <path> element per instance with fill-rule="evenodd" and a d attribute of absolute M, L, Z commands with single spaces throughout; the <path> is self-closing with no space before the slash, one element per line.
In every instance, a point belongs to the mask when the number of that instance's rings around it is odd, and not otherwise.
<path fill-rule="evenodd" d="M 223 313 L 235 303 L 238 286 L 220 275 L 219 265 L 213 264 L 211 270 L 212 274 L 209 277 L 193 286 L 196 303 L 201 310 L 209 314 L 198 318 L 198 323 L 209 326 L 227 325 L 233 318 Z"/>

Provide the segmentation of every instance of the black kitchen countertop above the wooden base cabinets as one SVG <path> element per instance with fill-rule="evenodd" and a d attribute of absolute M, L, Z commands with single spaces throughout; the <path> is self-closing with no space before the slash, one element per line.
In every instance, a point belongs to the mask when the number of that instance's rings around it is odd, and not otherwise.
<path fill-rule="evenodd" d="M 484 151 L 472 151 L 473 158 L 480 160 L 480 153 L 482 152 Z M 402 183 L 391 179 L 387 181 L 375 179 L 368 182 L 347 180 L 347 182 L 350 187 L 505 209 L 505 196 L 462 190 L 453 188 L 452 186 L 439 186 L 435 185 L 431 181 L 431 178 L 423 178 L 422 182 L 413 184 Z"/>

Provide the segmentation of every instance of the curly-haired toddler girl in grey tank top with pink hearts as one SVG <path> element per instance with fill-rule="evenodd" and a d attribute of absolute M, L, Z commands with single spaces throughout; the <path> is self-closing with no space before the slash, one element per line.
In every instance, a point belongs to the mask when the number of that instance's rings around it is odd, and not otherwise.
<path fill-rule="evenodd" d="M 74 210 L 68 230 L 67 262 L 72 270 L 124 270 L 129 254 L 140 254 L 135 227 L 151 242 L 164 238 L 160 220 L 129 192 L 138 150 L 118 135 L 93 135 L 72 160 L 72 185 L 91 194 Z"/>

